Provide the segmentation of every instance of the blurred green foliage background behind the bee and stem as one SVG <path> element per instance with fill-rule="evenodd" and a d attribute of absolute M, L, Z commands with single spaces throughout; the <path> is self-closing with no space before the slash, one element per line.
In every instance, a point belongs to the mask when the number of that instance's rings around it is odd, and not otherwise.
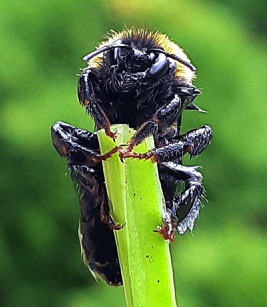
<path fill-rule="evenodd" d="M 107 30 L 158 28 L 198 68 L 183 131 L 208 123 L 198 158 L 209 203 L 171 245 L 179 306 L 267 305 L 265 1 L 16 1 L 0 5 L 0 305 L 124 306 L 80 258 L 78 200 L 50 140 L 92 129 L 76 98 L 81 57 Z M 66 174 L 66 175 L 65 175 Z"/>

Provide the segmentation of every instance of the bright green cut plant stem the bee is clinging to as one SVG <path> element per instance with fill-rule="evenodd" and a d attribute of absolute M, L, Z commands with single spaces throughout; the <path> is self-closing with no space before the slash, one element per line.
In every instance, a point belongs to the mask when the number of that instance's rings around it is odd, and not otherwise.
<path fill-rule="evenodd" d="M 113 125 L 115 142 L 98 131 L 101 154 L 126 144 L 134 130 Z M 153 148 L 148 137 L 134 148 L 146 152 Z M 173 274 L 168 242 L 157 232 L 164 212 L 164 198 L 157 166 L 151 160 L 124 159 L 118 153 L 103 161 L 110 214 L 124 224 L 115 230 L 125 300 L 128 307 L 175 307 Z"/>

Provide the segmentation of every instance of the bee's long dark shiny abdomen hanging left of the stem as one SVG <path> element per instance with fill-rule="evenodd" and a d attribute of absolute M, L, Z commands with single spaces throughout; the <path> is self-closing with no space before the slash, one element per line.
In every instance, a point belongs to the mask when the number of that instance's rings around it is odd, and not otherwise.
<path fill-rule="evenodd" d="M 121 285 L 122 277 L 113 231 L 100 218 L 101 203 L 107 201 L 103 172 L 98 168 L 69 165 L 80 202 L 79 240 L 85 265 L 96 280 Z"/>

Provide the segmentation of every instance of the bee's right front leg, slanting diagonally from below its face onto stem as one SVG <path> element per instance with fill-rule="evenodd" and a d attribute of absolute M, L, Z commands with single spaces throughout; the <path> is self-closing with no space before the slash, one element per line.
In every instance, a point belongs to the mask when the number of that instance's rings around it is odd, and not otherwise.
<path fill-rule="evenodd" d="M 147 121 L 145 121 L 130 139 L 125 153 L 130 152 L 134 146 L 144 140 L 145 137 L 155 134 L 158 128 L 161 130 L 166 128 L 173 121 L 182 109 L 180 96 L 175 94 L 170 102 L 160 107 L 156 113 Z"/>

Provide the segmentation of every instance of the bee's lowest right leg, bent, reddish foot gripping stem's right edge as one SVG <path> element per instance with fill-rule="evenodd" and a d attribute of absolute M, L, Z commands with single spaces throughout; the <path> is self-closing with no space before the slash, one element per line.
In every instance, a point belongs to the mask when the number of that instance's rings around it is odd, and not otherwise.
<path fill-rule="evenodd" d="M 202 175 L 197 171 L 198 166 L 188 167 L 172 162 L 164 162 L 161 166 L 167 168 L 169 175 L 174 176 L 176 180 L 185 182 L 185 189 L 179 195 L 166 200 L 167 210 L 161 226 L 157 229 L 165 239 L 172 241 L 174 228 L 180 234 L 187 229 L 192 231 L 203 193 Z"/>

